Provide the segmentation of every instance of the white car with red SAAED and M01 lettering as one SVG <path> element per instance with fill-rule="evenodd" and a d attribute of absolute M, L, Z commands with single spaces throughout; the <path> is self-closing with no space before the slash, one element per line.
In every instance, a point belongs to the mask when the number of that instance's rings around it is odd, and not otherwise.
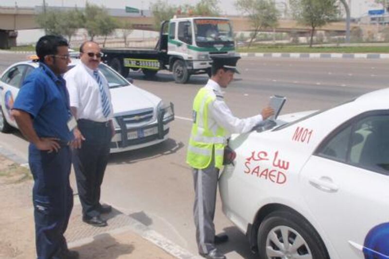
<path fill-rule="evenodd" d="M 389 88 L 233 135 L 223 212 L 261 259 L 389 258 Z"/>

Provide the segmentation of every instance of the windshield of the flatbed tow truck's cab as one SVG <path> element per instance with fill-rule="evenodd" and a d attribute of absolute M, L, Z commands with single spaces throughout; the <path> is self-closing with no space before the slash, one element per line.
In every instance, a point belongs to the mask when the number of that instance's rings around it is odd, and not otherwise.
<path fill-rule="evenodd" d="M 233 41 L 230 22 L 222 19 L 195 19 L 195 35 L 197 43 Z"/>

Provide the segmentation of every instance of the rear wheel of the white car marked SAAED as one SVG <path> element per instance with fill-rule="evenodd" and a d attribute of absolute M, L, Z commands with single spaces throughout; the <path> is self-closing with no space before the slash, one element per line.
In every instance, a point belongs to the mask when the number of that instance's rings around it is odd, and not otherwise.
<path fill-rule="evenodd" d="M 283 239 L 288 239 L 284 245 Z M 329 259 L 315 228 L 301 215 L 280 210 L 270 213 L 258 228 L 258 254 L 261 259 L 299 258 Z M 304 257 L 305 258 L 305 257 Z"/>

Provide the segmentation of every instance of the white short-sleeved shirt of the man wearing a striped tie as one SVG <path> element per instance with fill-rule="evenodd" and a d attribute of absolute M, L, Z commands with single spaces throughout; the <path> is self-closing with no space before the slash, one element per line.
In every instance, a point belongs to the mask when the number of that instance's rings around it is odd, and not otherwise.
<path fill-rule="evenodd" d="M 100 71 L 99 76 L 103 82 L 110 107 L 110 113 L 107 117 L 103 114 L 100 89 L 92 69 L 81 62 L 64 75 L 69 91 L 70 106 L 77 108 L 77 120 L 104 122 L 112 119 L 113 107 L 108 82 Z"/>

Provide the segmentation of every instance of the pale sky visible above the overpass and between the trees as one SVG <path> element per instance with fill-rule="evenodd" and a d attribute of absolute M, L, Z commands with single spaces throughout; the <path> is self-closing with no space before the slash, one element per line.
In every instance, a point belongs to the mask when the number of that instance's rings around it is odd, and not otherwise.
<path fill-rule="evenodd" d="M 88 0 L 90 3 L 97 5 L 104 5 L 107 8 L 124 8 L 125 6 L 131 6 L 139 9 L 148 9 L 150 3 L 155 2 L 156 0 L 109 0 L 109 6 L 106 4 L 106 0 Z M 168 4 L 178 5 L 178 4 L 194 4 L 197 1 L 195 0 L 165 0 Z M 287 2 L 287 0 L 276 0 L 277 2 Z M 351 1 L 351 16 L 360 17 L 366 15 L 368 10 L 379 9 L 380 6 L 374 4 L 374 0 L 347 0 Z M 46 0 L 46 3 L 49 6 L 85 6 L 86 0 Z M 237 15 L 236 8 L 234 7 L 235 0 L 220 0 L 220 8 L 222 9 L 223 14 L 227 15 Z M 0 0 L 0 6 L 15 6 L 17 3 L 18 6 L 35 6 L 42 5 L 43 0 Z M 282 8 L 280 4 L 280 8 Z"/>

